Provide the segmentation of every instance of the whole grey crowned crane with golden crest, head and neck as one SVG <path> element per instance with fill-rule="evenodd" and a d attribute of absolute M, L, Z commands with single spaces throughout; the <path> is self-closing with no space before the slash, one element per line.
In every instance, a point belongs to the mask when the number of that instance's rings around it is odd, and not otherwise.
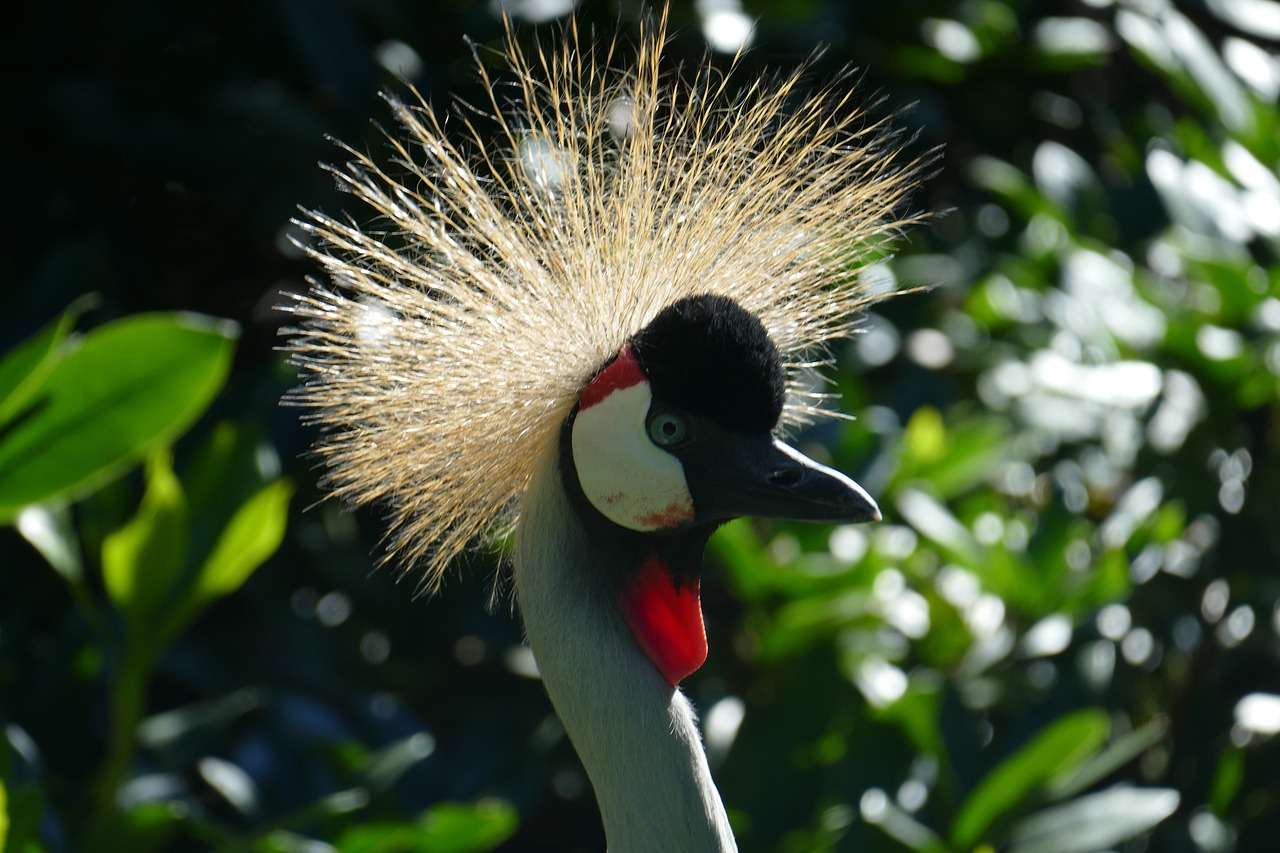
<path fill-rule="evenodd" d="M 739 86 L 626 70 L 570 26 L 483 110 L 388 99 L 393 165 L 333 168 L 367 225 L 307 213 L 330 283 L 292 306 L 293 402 L 340 498 L 390 511 L 429 592 L 515 535 L 515 594 L 609 849 L 732 850 L 680 681 L 707 656 L 700 561 L 736 516 L 879 517 L 778 433 L 823 414 L 809 374 L 876 295 L 859 266 L 911 220 L 915 163 L 804 69 Z M 476 115 L 494 126 L 480 128 Z M 497 141 L 494 141 L 494 138 Z"/>

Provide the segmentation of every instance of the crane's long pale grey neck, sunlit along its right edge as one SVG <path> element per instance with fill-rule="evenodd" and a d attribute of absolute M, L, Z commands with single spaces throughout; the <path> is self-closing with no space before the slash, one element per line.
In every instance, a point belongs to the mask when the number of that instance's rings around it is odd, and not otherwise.
<path fill-rule="evenodd" d="M 636 646 L 564 493 L 559 453 L 547 456 L 516 533 L 516 596 L 609 850 L 736 850 L 692 707 Z"/>

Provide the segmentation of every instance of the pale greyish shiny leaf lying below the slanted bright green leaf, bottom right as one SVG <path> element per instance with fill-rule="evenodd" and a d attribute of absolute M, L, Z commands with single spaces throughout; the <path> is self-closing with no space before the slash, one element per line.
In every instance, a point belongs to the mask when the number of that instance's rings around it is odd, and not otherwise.
<path fill-rule="evenodd" d="M 1092 853 L 1146 833 L 1178 811 L 1172 788 L 1107 790 L 1046 808 L 1014 825 L 1009 853 Z"/>

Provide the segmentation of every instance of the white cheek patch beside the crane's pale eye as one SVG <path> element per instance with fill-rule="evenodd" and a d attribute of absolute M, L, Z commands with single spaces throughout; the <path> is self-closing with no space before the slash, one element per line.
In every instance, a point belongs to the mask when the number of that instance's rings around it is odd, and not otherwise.
<path fill-rule="evenodd" d="M 630 530 L 668 530 L 694 520 L 680 460 L 645 430 L 649 383 L 612 391 L 573 420 L 577 480 L 600 515 Z"/>

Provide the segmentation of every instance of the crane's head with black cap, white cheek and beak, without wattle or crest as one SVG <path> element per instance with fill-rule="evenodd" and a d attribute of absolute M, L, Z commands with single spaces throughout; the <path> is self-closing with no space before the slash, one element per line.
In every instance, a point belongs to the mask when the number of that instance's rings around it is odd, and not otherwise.
<path fill-rule="evenodd" d="M 588 383 L 570 464 L 611 523 L 666 534 L 739 516 L 879 519 L 844 474 L 774 435 L 786 371 L 764 325 L 724 296 L 660 311 Z"/>

